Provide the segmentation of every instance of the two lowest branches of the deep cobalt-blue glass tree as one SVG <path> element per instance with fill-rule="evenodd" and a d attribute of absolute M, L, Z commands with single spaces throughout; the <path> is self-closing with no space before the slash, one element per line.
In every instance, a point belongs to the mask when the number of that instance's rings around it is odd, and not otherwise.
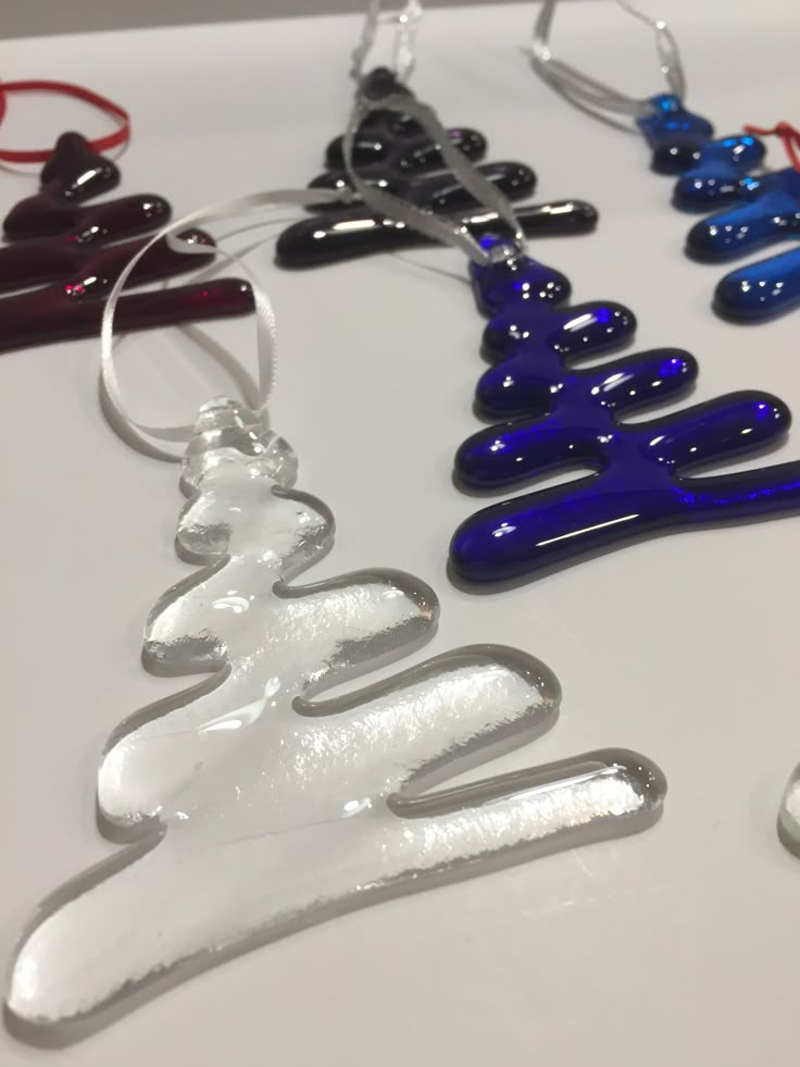
<path fill-rule="evenodd" d="M 464 457 L 470 449 L 477 452 L 471 462 L 483 486 L 495 472 L 504 485 L 576 462 L 599 473 L 472 516 L 451 543 L 450 561 L 460 578 L 516 579 L 665 526 L 800 508 L 800 462 L 684 476 L 695 463 L 740 455 L 786 432 L 788 409 L 766 393 L 730 394 L 643 425 L 617 426 L 611 411 L 604 432 L 599 421 L 596 415 L 578 423 L 571 414 L 525 420 L 463 446 Z"/>

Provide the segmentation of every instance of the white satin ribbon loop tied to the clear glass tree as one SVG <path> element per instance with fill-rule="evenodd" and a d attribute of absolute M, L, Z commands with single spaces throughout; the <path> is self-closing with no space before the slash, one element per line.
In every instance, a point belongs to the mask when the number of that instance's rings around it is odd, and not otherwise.
<path fill-rule="evenodd" d="M 153 245 L 165 237 L 170 247 L 175 251 L 185 252 L 190 256 L 214 256 L 234 264 L 237 271 L 241 271 L 247 275 L 252 287 L 253 302 L 255 305 L 258 385 L 254 392 L 250 389 L 243 389 L 242 392 L 250 394 L 245 395 L 243 399 L 254 411 L 261 412 L 262 418 L 265 419 L 264 408 L 275 381 L 275 312 L 273 311 L 272 303 L 255 281 L 253 274 L 242 263 L 239 257 L 232 256 L 216 246 L 182 240 L 175 235 L 178 231 L 185 229 L 190 225 L 202 225 L 222 219 L 251 215 L 264 210 L 272 210 L 280 204 L 328 203 L 332 200 L 348 202 L 352 197 L 353 195 L 349 189 L 342 189 L 336 193 L 329 189 L 274 189 L 265 193 L 253 193 L 233 200 L 222 200 L 218 203 L 192 211 L 182 219 L 163 226 L 128 261 L 109 294 L 100 327 L 101 402 L 114 430 L 117 433 L 122 431 L 121 435 L 124 436 L 128 444 L 158 459 L 167 460 L 168 462 L 180 462 L 183 458 L 180 455 L 176 455 L 165 448 L 160 448 L 153 444 L 153 441 L 187 442 L 193 429 L 193 424 L 191 423 L 177 426 L 152 426 L 139 422 L 128 412 L 123 401 L 122 389 L 114 364 L 114 314 L 122 290 L 125 288 L 128 278 L 141 258 Z M 115 422 L 116 425 L 114 425 Z"/>

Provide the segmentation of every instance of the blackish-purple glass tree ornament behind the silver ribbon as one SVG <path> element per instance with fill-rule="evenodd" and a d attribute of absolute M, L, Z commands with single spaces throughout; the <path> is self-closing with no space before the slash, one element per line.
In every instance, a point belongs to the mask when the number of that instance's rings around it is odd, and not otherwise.
<path fill-rule="evenodd" d="M 385 67 L 372 71 L 362 89 L 373 99 L 398 92 L 412 96 Z M 487 141 L 483 134 L 466 127 L 447 133 L 452 144 L 472 162 L 485 156 Z M 342 145 L 342 137 L 330 141 L 325 152 L 328 171 L 314 178 L 311 188 L 340 190 L 350 187 L 343 170 Z M 446 215 L 453 226 L 465 226 L 474 236 L 498 229 L 497 214 L 478 207 L 454 175 L 442 170 L 440 146 L 409 115 L 382 109 L 371 112 L 354 137 L 352 161 L 367 184 L 418 208 Z M 478 170 L 510 200 L 525 199 L 536 186 L 536 175 L 524 163 L 486 163 Z M 596 209 L 580 200 L 523 207 L 517 210 L 517 218 L 528 236 L 585 233 L 597 224 Z M 315 206 L 312 219 L 285 229 L 277 240 L 275 253 L 280 266 L 320 266 L 426 243 L 426 237 L 405 223 L 376 214 L 365 207 L 339 202 Z"/>

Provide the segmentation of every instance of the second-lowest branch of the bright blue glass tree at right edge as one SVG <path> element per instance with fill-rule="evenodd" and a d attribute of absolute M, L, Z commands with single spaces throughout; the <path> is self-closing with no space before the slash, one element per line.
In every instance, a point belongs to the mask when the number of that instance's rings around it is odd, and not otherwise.
<path fill-rule="evenodd" d="M 800 173 L 793 168 L 761 179 L 759 195 L 696 223 L 686 238 L 695 259 L 726 260 L 800 236 Z"/>

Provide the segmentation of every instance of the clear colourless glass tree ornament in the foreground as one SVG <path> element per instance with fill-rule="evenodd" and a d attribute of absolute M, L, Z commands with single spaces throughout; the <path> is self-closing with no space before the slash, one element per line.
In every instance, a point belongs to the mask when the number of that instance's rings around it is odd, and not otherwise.
<path fill-rule="evenodd" d="M 554 722 L 558 681 L 524 653 L 459 648 L 317 699 L 429 636 L 438 605 L 390 570 L 287 584 L 333 541 L 295 474 L 257 414 L 201 411 L 177 548 L 204 566 L 151 612 L 145 663 L 211 678 L 111 737 L 99 811 L 134 843 L 37 911 L 7 995 L 22 1037 L 75 1040 L 303 926 L 658 818 L 663 776 L 624 749 L 440 786 Z"/>

